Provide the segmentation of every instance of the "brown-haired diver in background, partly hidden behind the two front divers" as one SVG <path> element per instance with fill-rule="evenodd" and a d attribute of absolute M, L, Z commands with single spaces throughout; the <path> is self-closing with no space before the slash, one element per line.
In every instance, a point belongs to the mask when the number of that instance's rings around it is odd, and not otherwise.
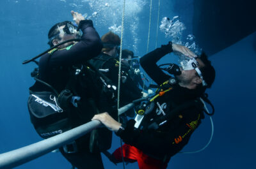
<path fill-rule="evenodd" d="M 97 57 L 93 57 L 90 63 L 99 69 L 108 77 L 115 86 L 118 86 L 120 38 L 117 34 L 111 31 L 104 34 L 101 38 L 103 43 L 102 52 Z M 120 107 L 131 103 L 134 99 L 141 98 L 141 90 L 137 87 L 134 81 L 129 76 L 130 67 L 122 62 L 121 84 L 120 84 Z M 117 91 L 117 90 L 116 90 Z M 109 101 L 109 104 L 116 109 L 117 94 Z M 116 109 L 117 110 L 117 109 Z M 117 114 L 117 113 L 116 113 Z M 129 111 L 126 115 L 134 117 L 134 111 Z M 117 117 L 116 117 L 117 118 Z"/>

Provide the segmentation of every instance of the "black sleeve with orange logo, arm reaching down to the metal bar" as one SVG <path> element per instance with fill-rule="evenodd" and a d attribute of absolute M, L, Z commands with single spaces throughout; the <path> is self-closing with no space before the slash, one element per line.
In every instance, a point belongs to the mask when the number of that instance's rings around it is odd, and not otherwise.
<path fill-rule="evenodd" d="M 190 112 L 191 113 L 191 112 Z M 197 114 L 198 115 L 198 114 Z M 179 152 L 189 141 L 193 131 L 200 124 L 200 117 L 189 117 L 183 120 L 173 119 L 170 126 L 164 131 L 154 129 L 140 130 L 134 128 L 134 120 L 124 125 L 124 130 L 118 130 L 116 135 L 120 136 L 125 143 L 132 145 L 146 154 L 154 154 L 163 157 L 166 154 L 171 156 Z"/>

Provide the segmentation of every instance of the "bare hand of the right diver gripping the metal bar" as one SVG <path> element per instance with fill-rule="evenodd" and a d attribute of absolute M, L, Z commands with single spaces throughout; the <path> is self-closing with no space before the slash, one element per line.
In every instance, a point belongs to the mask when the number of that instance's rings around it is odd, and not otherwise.
<path fill-rule="evenodd" d="M 115 121 L 107 112 L 104 112 L 102 114 L 96 114 L 92 118 L 92 121 L 98 120 L 104 124 L 109 130 L 111 131 L 118 131 L 120 126 L 122 125 L 120 122 Z"/>

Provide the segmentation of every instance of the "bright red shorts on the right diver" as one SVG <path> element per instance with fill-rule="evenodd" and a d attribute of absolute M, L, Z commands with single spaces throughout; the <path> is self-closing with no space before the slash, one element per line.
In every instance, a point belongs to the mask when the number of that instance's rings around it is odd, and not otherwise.
<path fill-rule="evenodd" d="M 138 161 L 138 165 L 140 169 L 165 169 L 167 168 L 168 163 L 163 163 L 155 158 L 151 158 L 147 154 L 144 154 L 142 151 L 128 144 L 124 144 L 122 146 L 124 161 L 129 163 L 134 163 Z M 118 160 L 118 162 L 122 162 L 122 154 L 121 147 L 113 152 L 113 156 Z"/>

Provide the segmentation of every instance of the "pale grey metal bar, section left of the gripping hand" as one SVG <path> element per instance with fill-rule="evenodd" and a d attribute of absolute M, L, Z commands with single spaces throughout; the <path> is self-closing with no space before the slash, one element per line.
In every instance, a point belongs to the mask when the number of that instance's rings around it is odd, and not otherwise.
<path fill-rule="evenodd" d="M 76 140 L 92 131 L 92 129 L 98 128 L 100 125 L 101 123 L 99 121 L 91 121 L 77 128 L 70 129 L 65 133 L 61 133 L 60 135 L 52 136 L 51 138 L 33 143 L 26 147 L 0 154 L 0 168 L 14 168 L 27 163 Z"/>

